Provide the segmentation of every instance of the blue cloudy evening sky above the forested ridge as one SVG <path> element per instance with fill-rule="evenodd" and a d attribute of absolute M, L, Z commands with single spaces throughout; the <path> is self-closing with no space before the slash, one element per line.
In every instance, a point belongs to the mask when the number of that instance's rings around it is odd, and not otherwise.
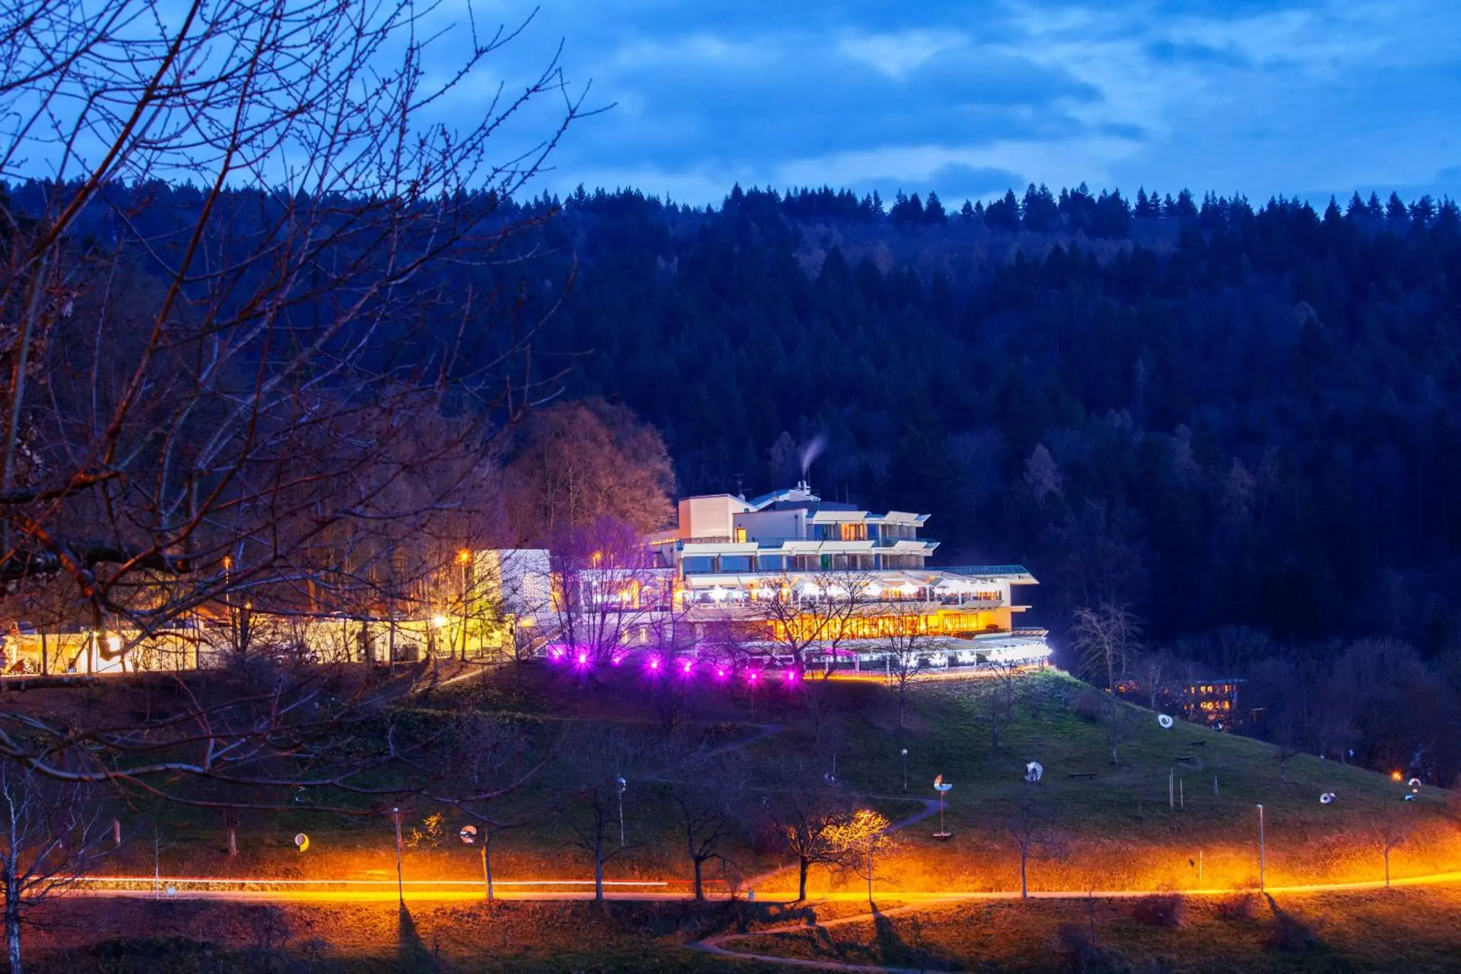
<path fill-rule="evenodd" d="M 1461 197 L 1461 0 L 545 0 L 451 110 L 560 39 L 570 83 L 614 107 L 568 133 L 558 191 Z"/>

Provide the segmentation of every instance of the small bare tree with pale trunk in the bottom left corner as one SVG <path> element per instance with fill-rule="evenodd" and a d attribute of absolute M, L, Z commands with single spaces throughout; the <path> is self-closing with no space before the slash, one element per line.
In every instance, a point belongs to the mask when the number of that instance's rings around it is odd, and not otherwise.
<path fill-rule="evenodd" d="M 102 816 L 85 786 L 58 786 L 0 764 L 0 885 L 6 954 L 22 973 L 20 927 L 32 908 L 64 894 L 104 854 Z"/>

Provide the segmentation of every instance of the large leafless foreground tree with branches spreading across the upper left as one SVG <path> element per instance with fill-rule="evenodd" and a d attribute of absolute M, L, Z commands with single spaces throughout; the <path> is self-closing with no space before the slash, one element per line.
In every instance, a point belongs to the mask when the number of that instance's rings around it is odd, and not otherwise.
<path fill-rule="evenodd" d="M 321 0 L 0 12 L 0 180 L 47 177 L 0 196 L 0 581 L 13 593 L 54 590 L 118 653 L 199 615 L 226 618 L 240 651 L 240 613 L 384 615 L 449 568 L 494 431 L 536 394 L 530 353 L 552 305 L 516 283 L 498 294 L 495 267 L 546 216 L 507 202 L 579 101 L 549 63 L 465 127 L 431 123 L 516 35 L 459 23 L 453 64 L 440 13 Z M 501 150 L 504 126 L 542 96 L 561 99 L 557 124 Z M 164 180 L 188 184 L 186 204 L 150 204 Z M 432 283 L 443 261 L 451 283 Z M 167 713 L 120 726 L 4 708 L 0 755 L 169 793 L 196 778 L 345 786 L 342 745 L 378 724 L 373 701 L 250 672 L 186 685 Z"/>

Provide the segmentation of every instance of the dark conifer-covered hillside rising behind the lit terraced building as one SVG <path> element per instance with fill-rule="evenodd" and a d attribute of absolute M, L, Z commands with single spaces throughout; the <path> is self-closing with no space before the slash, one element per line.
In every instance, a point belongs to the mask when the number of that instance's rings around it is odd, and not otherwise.
<path fill-rule="evenodd" d="M 191 194 L 110 200 L 161 228 Z M 818 491 L 931 513 L 944 562 L 1024 562 L 1056 629 L 1118 600 L 1153 640 L 1461 638 L 1448 200 L 736 187 L 697 209 L 580 188 L 497 212 L 557 216 L 444 291 L 495 289 L 524 320 L 561 302 L 542 371 L 662 429 L 684 492 L 785 485 L 824 437 Z"/>

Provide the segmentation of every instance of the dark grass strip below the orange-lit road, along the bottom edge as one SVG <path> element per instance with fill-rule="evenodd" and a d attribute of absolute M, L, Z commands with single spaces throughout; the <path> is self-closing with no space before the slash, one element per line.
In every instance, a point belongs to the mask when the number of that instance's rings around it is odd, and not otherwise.
<path fill-rule="evenodd" d="M 929 971 L 1454 971 L 1461 889 L 1156 901 L 1001 901 L 847 917 L 850 904 L 500 902 L 237 905 L 114 901 L 51 910 L 28 935 L 32 971 L 744 971 L 688 945 L 748 933 L 738 952 Z M 795 924 L 796 930 L 757 935 Z M 140 935 L 139 932 L 146 932 Z"/>

